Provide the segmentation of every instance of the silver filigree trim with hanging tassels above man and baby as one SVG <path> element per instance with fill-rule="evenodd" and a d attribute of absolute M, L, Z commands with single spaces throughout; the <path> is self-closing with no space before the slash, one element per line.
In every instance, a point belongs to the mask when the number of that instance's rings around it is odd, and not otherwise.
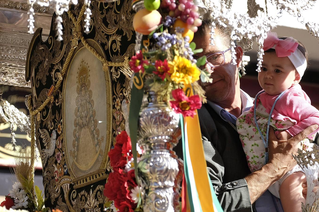
<path fill-rule="evenodd" d="M 289 14 L 297 17 L 297 20 L 303 23 L 301 13 L 305 10 L 312 9 L 315 0 L 270 0 L 266 3 L 271 3 L 277 6 L 278 14 L 276 16 L 265 17 L 250 17 L 248 13 L 240 14 L 231 10 L 232 2 L 229 0 L 203 0 L 204 5 L 208 9 L 208 13 L 203 17 L 214 19 L 219 25 L 224 26 L 230 33 L 231 39 L 237 42 L 248 41 L 257 38 L 257 72 L 261 71 L 261 64 L 263 62 L 263 41 L 267 37 L 267 32 L 275 28 L 278 20 L 281 17 L 282 11 L 287 11 Z M 252 7 L 252 5 L 249 5 Z M 261 7 L 256 4 L 256 10 L 261 10 Z M 306 24 L 310 34 L 318 36 L 318 25 L 312 22 Z M 211 44 L 214 45 L 215 36 L 215 22 L 211 26 Z M 236 64 L 235 43 L 231 42 L 232 64 Z M 252 42 L 246 42 L 244 45 L 244 52 L 250 50 Z M 243 67 L 241 68 L 244 73 Z"/>

